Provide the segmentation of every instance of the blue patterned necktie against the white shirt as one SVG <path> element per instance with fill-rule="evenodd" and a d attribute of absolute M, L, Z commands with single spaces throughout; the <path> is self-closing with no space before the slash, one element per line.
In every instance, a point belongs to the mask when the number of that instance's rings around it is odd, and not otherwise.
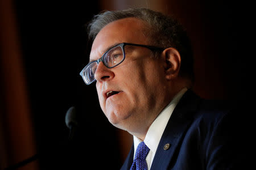
<path fill-rule="evenodd" d="M 147 170 L 146 156 L 150 149 L 144 142 L 139 143 L 130 170 Z"/>

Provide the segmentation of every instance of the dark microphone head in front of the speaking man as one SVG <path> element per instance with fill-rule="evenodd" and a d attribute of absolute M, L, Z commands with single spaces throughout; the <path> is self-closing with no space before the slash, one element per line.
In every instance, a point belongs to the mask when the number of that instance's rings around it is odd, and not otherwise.
<path fill-rule="evenodd" d="M 65 116 L 65 124 L 67 125 L 68 129 L 70 130 L 69 140 L 72 140 L 75 135 L 75 131 L 76 131 L 76 128 L 78 125 L 75 107 L 71 107 L 68 109 L 67 114 Z"/>

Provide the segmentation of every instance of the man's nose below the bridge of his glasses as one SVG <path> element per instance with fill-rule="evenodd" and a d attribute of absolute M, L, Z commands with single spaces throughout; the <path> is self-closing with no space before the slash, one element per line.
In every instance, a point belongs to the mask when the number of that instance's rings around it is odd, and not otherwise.
<path fill-rule="evenodd" d="M 97 82 L 104 82 L 113 79 L 114 73 L 112 70 L 106 67 L 103 62 L 99 62 L 94 74 L 94 78 L 97 80 Z"/>

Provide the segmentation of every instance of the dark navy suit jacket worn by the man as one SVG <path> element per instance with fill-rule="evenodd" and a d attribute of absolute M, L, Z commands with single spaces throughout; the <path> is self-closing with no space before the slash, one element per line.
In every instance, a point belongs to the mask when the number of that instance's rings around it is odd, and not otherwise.
<path fill-rule="evenodd" d="M 227 106 L 188 90 L 168 121 L 151 169 L 239 169 L 246 156 L 241 120 L 239 110 Z M 164 150 L 167 143 L 170 147 Z M 130 169 L 133 155 L 134 146 L 121 170 Z"/>

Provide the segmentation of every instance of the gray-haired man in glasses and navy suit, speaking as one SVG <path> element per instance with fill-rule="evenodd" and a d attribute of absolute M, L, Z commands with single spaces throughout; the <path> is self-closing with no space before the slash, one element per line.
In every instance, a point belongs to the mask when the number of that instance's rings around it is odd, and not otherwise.
<path fill-rule="evenodd" d="M 80 75 L 96 81 L 102 111 L 134 144 L 121 169 L 229 169 L 236 114 L 200 99 L 193 57 L 181 25 L 146 8 L 107 11 L 88 25 L 93 41 Z"/>

